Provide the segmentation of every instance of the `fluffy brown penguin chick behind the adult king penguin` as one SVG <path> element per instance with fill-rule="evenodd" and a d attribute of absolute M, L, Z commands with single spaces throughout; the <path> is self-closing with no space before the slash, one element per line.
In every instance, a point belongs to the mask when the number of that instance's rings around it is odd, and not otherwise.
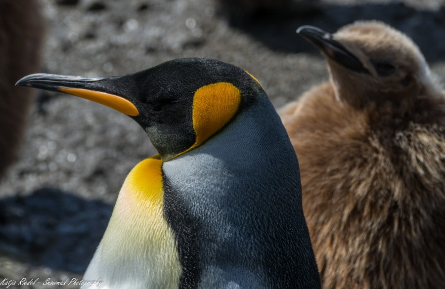
<path fill-rule="evenodd" d="M 323 288 L 444 288 L 445 95 L 423 55 L 376 21 L 298 32 L 330 72 L 280 112 Z"/>

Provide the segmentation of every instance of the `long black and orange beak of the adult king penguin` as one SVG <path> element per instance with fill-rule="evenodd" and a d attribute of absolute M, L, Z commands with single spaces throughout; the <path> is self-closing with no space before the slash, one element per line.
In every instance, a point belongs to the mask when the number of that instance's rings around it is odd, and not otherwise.
<path fill-rule="evenodd" d="M 116 85 L 110 85 L 117 77 L 109 78 L 87 78 L 79 76 L 66 76 L 38 73 L 25 76 L 16 86 L 28 86 L 49 91 L 63 92 L 79 96 L 108 107 L 111 107 L 123 114 L 135 117 L 139 111 L 128 98 L 123 97 L 123 93 L 112 91 Z"/>

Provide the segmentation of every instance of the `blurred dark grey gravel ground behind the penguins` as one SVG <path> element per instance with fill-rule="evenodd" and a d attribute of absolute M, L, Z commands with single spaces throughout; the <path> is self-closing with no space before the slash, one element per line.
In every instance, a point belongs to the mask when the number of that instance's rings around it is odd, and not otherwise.
<path fill-rule="evenodd" d="M 380 19 L 412 37 L 445 80 L 442 0 L 325 0 L 309 10 L 299 10 L 300 1 L 285 13 L 243 13 L 211 0 L 41 1 L 47 73 L 123 75 L 174 58 L 211 57 L 255 75 L 279 108 L 327 80 L 322 57 L 295 34 L 298 26 L 334 32 L 358 19 Z M 76 97 L 40 93 L 21 158 L 0 184 L 0 282 L 80 278 L 125 176 L 153 154 L 130 118 Z"/>

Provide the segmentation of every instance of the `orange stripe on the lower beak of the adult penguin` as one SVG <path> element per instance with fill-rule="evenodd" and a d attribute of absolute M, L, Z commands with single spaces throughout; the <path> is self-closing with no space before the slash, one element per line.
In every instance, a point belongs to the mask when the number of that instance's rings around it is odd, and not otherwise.
<path fill-rule="evenodd" d="M 139 115 L 139 111 L 134 106 L 134 104 L 130 100 L 123 98 L 122 96 L 82 88 L 62 87 L 58 89 L 62 92 L 106 105 L 128 116 L 135 117 Z"/>

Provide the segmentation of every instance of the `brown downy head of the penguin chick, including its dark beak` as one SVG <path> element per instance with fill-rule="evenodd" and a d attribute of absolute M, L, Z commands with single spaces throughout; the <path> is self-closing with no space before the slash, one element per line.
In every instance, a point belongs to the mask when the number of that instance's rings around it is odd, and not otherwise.
<path fill-rule="evenodd" d="M 399 102 L 434 86 L 417 45 L 379 21 L 358 21 L 330 34 L 312 26 L 297 33 L 325 56 L 337 98 L 355 106 Z"/>

